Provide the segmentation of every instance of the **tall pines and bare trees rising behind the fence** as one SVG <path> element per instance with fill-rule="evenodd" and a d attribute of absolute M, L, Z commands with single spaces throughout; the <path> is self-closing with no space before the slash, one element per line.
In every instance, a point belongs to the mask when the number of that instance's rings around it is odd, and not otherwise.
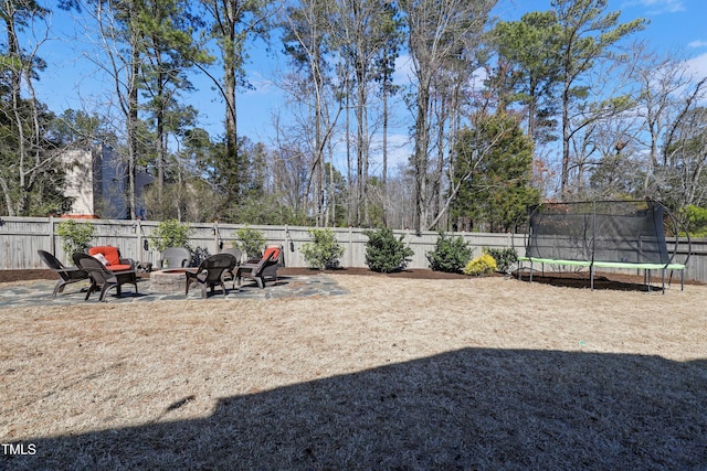
<path fill-rule="evenodd" d="M 707 78 L 630 45 L 647 23 L 606 0 L 492 23 L 495 3 L 61 0 L 105 87 L 54 116 L 34 93 L 54 6 L 3 0 L 1 212 L 63 211 L 60 157 L 94 144 L 127 168 L 126 217 L 505 231 L 539 195 L 707 206 Z M 262 46 L 287 61 L 258 142 L 236 96 Z M 222 132 L 191 98 L 201 74 Z"/>

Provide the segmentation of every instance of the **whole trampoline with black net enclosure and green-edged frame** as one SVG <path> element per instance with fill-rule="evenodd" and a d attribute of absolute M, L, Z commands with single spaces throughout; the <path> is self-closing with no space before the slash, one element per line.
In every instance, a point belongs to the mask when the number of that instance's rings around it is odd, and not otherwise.
<path fill-rule="evenodd" d="M 666 231 L 667 229 L 667 231 Z M 529 263 L 530 282 L 534 265 L 559 265 L 588 268 L 594 289 L 597 268 L 643 270 L 648 289 L 651 271 L 659 270 L 662 288 L 669 271 L 680 274 L 680 289 L 689 251 L 683 263 L 675 259 L 679 224 L 659 202 L 592 201 L 542 203 L 529 208 L 526 253 L 518 257 L 518 278 L 524 263 Z M 668 250 L 669 234 L 672 250 Z M 690 246 L 689 236 L 687 237 Z"/>

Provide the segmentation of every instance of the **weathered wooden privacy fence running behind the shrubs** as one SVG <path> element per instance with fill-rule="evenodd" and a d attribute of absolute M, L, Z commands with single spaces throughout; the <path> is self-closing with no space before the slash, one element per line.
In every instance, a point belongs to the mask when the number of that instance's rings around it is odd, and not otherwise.
<path fill-rule="evenodd" d="M 8 217 L 0 218 L 0 269 L 46 268 L 36 250 L 48 250 L 60 260 L 71 264 L 71 255 L 63 254 L 61 237 L 56 235 L 56 226 L 62 222 L 54 217 Z M 83 221 L 77 221 L 82 224 Z M 160 254 L 149 246 L 149 235 L 157 228 L 157 221 L 115 221 L 93 220 L 96 237 L 92 245 L 113 245 L 120 249 L 124 257 L 136 261 L 151 263 L 157 266 Z M 241 224 L 189 224 L 191 227 L 190 244 L 202 247 L 210 254 L 219 253 L 221 247 L 231 246 L 238 239 L 236 229 Z M 288 267 L 306 267 L 302 247 L 312 242 L 309 227 L 298 226 L 251 226 L 263 232 L 268 244 L 285 247 L 285 265 Z M 366 267 L 365 229 L 358 227 L 333 227 L 337 240 L 344 246 L 340 258 L 344 267 Z M 412 248 L 414 255 L 408 268 L 429 268 L 425 254 L 434 248 L 437 233 L 425 231 L 416 235 L 413 231 L 393 231 L 397 237 Z M 472 247 L 474 256 L 482 254 L 483 247 L 516 248 L 518 255 L 525 255 L 525 238 L 521 234 L 486 234 L 486 233 L 449 233 L 463 237 Z M 668 246 L 668 249 L 673 247 Z M 687 256 L 687 244 L 680 242 L 677 250 L 677 263 Z M 685 278 L 707 282 L 707 239 L 693 240 L 693 255 L 687 264 Z"/>

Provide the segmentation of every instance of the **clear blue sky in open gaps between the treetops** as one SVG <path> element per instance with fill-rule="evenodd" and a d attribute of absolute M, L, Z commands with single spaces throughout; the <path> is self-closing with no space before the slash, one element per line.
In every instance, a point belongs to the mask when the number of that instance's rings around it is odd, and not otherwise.
<path fill-rule="evenodd" d="M 499 0 L 494 13 L 503 20 L 517 20 L 529 11 L 550 9 L 550 0 Z M 707 76 L 707 0 L 609 0 L 609 10 L 621 10 L 621 21 L 635 18 L 650 20 L 648 26 L 634 39 L 645 40 L 651 47 L 672 53 L 689 62 L 699 76 Z M 95 36 L 81 35 L 72 30 L 77 14 L 55 12 L 52 19 L 51 39 L 40 55 L 48 62 L 48 69 L 36 84 L 39 98 L 53 111 L 66 108 L 101 110 L 101 100 L 110 93 L 110 83 L 101 77 L 95 65 L 82 53 L 91 53 Z M 73 38 L 80 34 L 78 38 Z M 281 50 L 278 45 L 274 47 Z M 272 137 L 272 116 L 284 106 L 284 95 L 275 86 L 276 71 L 285 68 L 285 60 L 266 55 L 262 47 L 252 51 L 253 61 L 247 65 L 250 82 L 255 89 L 239 95 L 239 133 L 252 140 L 268 143 Z M 405 57 L 399 61 L 398 76 L 404 79 L 409 64 Z M 221 124 L 223 105 L 212 85 L 203 76 L 194 76 L 198 92 L 187 95 L 189 101 L 200 110 L 201 126 L 212 133 L 223 132 Z M 402 107 L 400 107 L 402 109 Z M 399 159 L 409 152 L 407 128 L 412 119 L 401 110 L 401 127 L 391 136 L 399 143 Z M 393 131 L 394 132 L 394 131 Z"/>

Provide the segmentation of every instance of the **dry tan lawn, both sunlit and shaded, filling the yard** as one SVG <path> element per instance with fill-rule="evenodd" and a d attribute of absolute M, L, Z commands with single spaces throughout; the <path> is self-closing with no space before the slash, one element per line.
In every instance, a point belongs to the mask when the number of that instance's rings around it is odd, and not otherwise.
<path fill-rule="evenodd" d="M 707 469 L 707 287 L 331 278 L 0 309 L 0 469 Z"/>

